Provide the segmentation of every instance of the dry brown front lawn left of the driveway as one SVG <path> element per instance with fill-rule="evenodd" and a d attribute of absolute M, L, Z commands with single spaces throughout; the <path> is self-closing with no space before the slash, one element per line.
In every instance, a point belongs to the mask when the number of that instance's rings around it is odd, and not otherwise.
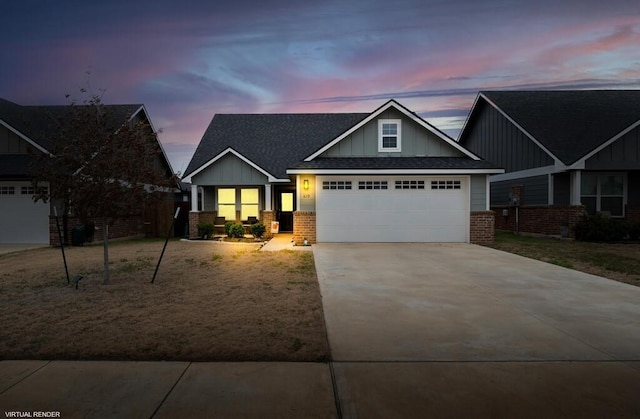
<path fill-rule="evenodd" d="M 0 255 L 0 359 L 326 361 L 310 252 L 255 244 L 171 241 Z"/>

